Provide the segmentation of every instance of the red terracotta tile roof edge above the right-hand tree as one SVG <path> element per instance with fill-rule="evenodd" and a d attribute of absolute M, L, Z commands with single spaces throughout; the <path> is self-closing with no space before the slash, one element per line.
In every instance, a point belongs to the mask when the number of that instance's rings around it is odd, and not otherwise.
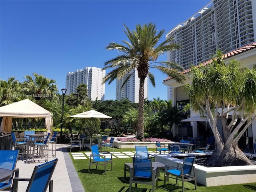
<path fill-rule="evenodd" d="M 238 54 L 240 54 L 240 53 L 246 52 L 246 51 L 251 50 L 251 49 L 254 49 L 254 48 L 256 48 L 256 42 L 247 44 L 246 46 L 243 46 L 243 47 L 241 47 L 241 48 L 238 48 L 238 49 L 236 49 L 236 50 L 233 50 L 233 51 L 231 51 L 231 52 L 228 52 L 228 53 L 224 54 L 223 57 L 224 57 L 224 59 L 230 58 L 230 57 L 232 57 L 232 56 L 238 55 Z M 206 65 L 210 64 L 211 62 L 212 62 L 212 59 L 207 60 L 207 61 L 205 61 L 205 62 L 203 62 L 203 63 L 201 63 L 201 64 L 199 64 L 199 65 L 197 65 L 197 66 L 195 66 L 195 67 L 200 67 L 201 65 L 206 66 Z M 181 73 L 182 73 L 182 74 L 186 74 L 186 73 L 188 73 L 188 72 L 190 72 L 190 71 L 191 71 L 191 68 L 189 68 L 189 69 L 187 69 L 187 70 L 184 70 L 184 71 L 182 71 Z M 164 79 L 164 82 L 165 82 L 165 81 L 168 81 L 168 80 L 170 80 L 170 79 L 172 79 L 172 77 L 168 77 L 168 78 Z"/>

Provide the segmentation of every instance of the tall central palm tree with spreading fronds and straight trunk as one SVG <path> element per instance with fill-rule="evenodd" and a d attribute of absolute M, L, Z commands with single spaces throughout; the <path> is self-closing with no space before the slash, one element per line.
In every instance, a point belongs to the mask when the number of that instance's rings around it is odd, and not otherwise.
<path fill-rule="evenodd" d="M 130 29 L 124 24 L 124 33 L 128 37 L 129 41 L 123 40 L 122 44 L 110 42 L 106 46 L 107 50 L 118 50 L 122 52 L 122 55 L 118 55 L 116 58 L 108 60 L 104 63 L 104 68 L 114 68 L 109 72 L 103 80 L 103 83 L 108 82 L 110 84 L 115 79 L 126 79 L 122 86 L 132 76 L 132 70 L 137 70 L 138 77 L 140 78 L 139 86 L 139 102 L 138 102 L 138 134 L 137 138 L 142 139 L 144 137 L 144 82 L 147 76 L 153 86 L 155 85 L 154 75 L 150 73 L 150 68 L 156 68 L 162 73 L 172 76 L 177 82 L 184 82 L 185 76 L 177 70 L 182 68 L 175 63 L 168 61 L 159 61 L 159 56 L 164 55 L 166 51 L 172 51 L 178 49 L 179 46 L 171 44 L 171 38 L 164 40 L 158 44 L 160 38 L 164 34 L 165 30 L 161 30 L 157 34 L 156 25 L 149 23 L 141 26 L 136 25 L 136 30 L 130 31 Z"/>

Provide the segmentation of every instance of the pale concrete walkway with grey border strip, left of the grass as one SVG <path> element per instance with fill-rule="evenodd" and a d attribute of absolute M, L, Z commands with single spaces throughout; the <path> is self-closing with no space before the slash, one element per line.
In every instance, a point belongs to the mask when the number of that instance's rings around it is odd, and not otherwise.
<path fill-rule="evenodd" d="M 57 144 L 56 158 L 58 158 L 58 162 L 52 175 L 53 192 L 84 192 L 84 188 L 66 149 L 67 146 L 69 145 Z M 51 154 L 49 150 L 49 155 Z M 54 159 L 53 157 L 49 157 L 49 161 Z M 31 162 L 24 163 L 24 161 L 18 160 L 16 168 L 20 169 L 19 177 L 30 178 L 34 167 L 44 163 L 44 160 L 34 162 L 34 164 Z M 19 182 L 18 192 L 26 191 L 27 186 L 28 182 Z"/>

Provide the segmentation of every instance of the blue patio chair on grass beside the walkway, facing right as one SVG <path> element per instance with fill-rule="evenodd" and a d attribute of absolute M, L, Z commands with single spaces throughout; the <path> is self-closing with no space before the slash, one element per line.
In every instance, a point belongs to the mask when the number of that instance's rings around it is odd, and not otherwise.
<path fill-rule="evenodd" d="M 98 145 L 91 146 L 92 154 L 90 155 L 89 169 L 88 173 L 90 173 L 91 164 L 96 164 L 96 169 L 98 165 L 104 166 L 104 172 L 106 175 L 106 164 L 111 163 L 111 171 L 112 171 L 112 154 L 106 152 L 99 152 Z M 110 158 L 106 158 L 106 154 L 110 156 Z"/>

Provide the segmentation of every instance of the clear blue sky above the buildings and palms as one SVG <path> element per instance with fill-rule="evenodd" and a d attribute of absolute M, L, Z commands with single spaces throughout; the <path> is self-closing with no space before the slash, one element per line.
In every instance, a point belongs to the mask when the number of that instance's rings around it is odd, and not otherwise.
<path fill-rule="evenodd" d="M 66 74 L 85 67 L 103 68 L 118 55 L 107 51 L 110 42 L 128 40 L 123 23 L 153 22 L 167 34 L 210 0 L 29 0 L 0 1 L 0 78 L 20 82 L 33 72 L 56 80 L 65 88 Z M 165 35 L 162 40 L 165 39 Z M 159 60 L 167 60 L 162 56 Z M 106 72 L 110 72 L 107 70 Z M 167 76 L 151 71 L 156 87 L 149 84 L 149 100 L 167 99 L 162 84 Z M 61 91 L 60 91 L 61 93 Z M 115 82 L 106 84 L 105 100 L 115 100 Z"/>

